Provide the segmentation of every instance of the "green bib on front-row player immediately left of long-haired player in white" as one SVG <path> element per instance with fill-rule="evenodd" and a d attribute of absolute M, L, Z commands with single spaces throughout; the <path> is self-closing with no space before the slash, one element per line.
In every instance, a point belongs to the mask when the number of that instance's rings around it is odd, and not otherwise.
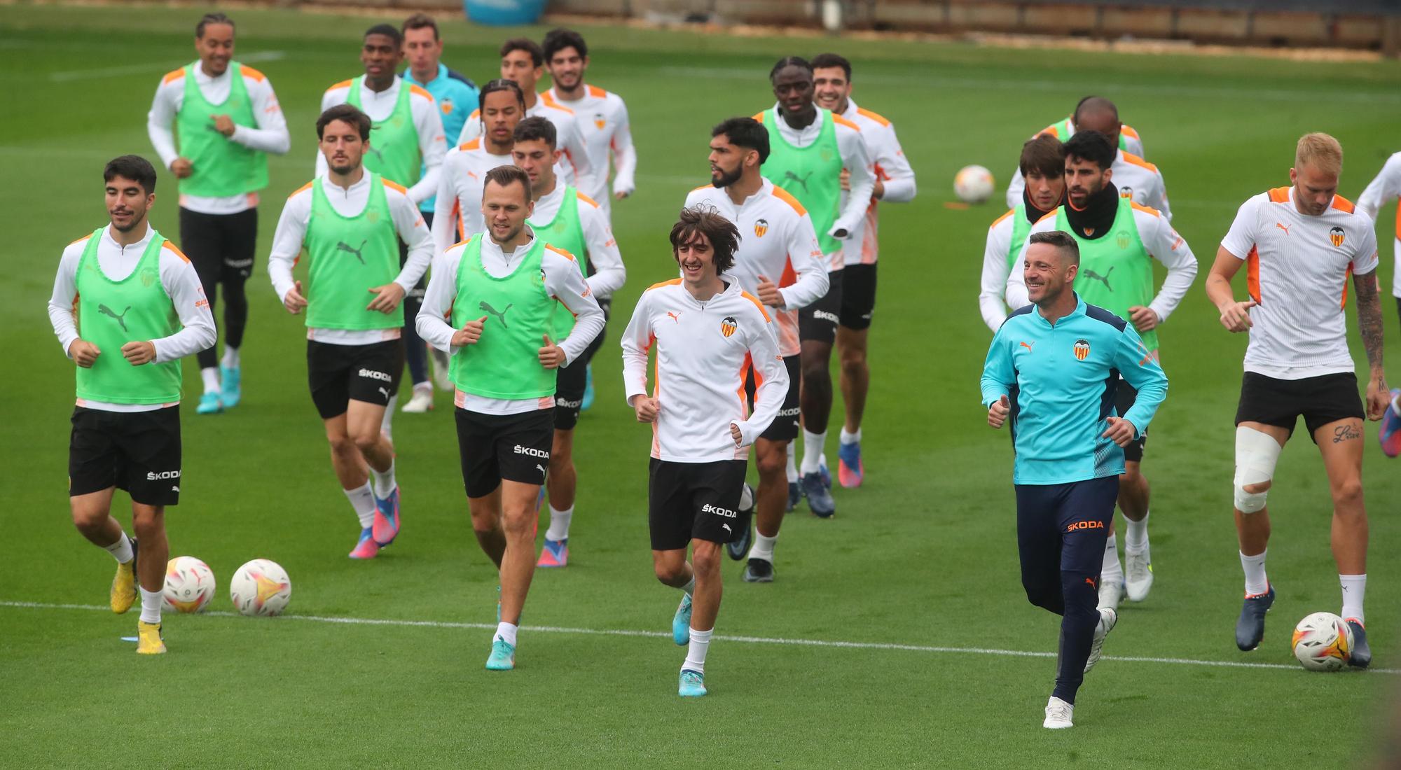
<path fill-rule="evenodd" d="M 464 393 L 488 399 L 552 396 L 556 374 L 539 364 L 539 349 L 553 329 L 559 302 L 546 291 L 541 270 L 545 241 L 537 237 L 511 274 L 497 279 L 482 266 L 483 237 L 474 235 L 462 246 L 453 328 L 461 329 L 483 315 L 486 323 L 482 339 L 453 354 L 453 384 Z"/>

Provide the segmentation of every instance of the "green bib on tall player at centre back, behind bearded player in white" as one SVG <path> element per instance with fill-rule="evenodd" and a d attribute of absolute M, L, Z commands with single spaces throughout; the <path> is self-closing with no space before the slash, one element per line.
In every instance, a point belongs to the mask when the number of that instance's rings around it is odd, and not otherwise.
<path fill-rule="evenodd" d="M 822 129 L 817 141 L 807 147 L 794 147 L 783 139 L 783 132 L 773 125 L 773 111 L 759 113 L 759 120 L 769 130 L 769 160 L 764 161 L 761 172 L 792 193 L 813 216 L 822 253 L 836 253 L 842 242 L 828 231 L 842 210 L 842 153 L 836 146 L 836 122 L 831 111 L 818 108 L 817 113 Z"/>

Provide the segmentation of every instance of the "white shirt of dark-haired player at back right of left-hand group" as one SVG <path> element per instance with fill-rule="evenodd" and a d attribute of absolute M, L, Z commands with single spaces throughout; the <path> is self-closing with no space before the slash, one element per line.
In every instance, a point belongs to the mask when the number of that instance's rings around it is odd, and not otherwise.
<path fill-rule="evenodd" d="M 608 195 L 608 161 L 612 158 L 614 195 L 632 195 L 637 189 L 637 150 L 632 146 L 632 127 L 628 123 L 628 105 L 622 97 L 595 85 L 584 85 L 584 95 L 565 101 L 556 88 L 541 94 L 566 109 L 574 111 L 579 130 L 584 140 L 584 153 L 593 169 L 593 186 L 584 195 L 594 199 L 605 216 L 612 216 L 612 196 Z M 580 188 L 583 189 L 583 188 Z"/>

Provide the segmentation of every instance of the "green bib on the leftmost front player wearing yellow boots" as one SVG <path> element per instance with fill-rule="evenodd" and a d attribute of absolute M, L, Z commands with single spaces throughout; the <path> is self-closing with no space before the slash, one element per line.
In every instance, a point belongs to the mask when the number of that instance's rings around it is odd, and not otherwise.
<path fill-rule="evenodd" d="M 133 367 L 122 357 L 122 346 L 134 340 L 157 340 L 181 330 L 179 315 L 161 286 L 161 246 L 165 238 L 151 231 L 151 242 L 130 276 L 115 281 L 102 272 L 97 246 L 99 227 L 78 258 L 78 332 L 101 354 L 92 368 L 78 367 L 77 396 L 108 403 L 174 403 L 181 396 L 179 360 Z"/>

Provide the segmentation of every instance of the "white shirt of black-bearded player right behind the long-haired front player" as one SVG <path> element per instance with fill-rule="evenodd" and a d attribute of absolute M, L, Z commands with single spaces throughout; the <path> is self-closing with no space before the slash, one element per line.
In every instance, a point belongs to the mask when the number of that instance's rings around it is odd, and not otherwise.
<path fill-rule="evenodd" d="M 740 251 L 734 255 L 734 267 L 724 276 L 734 277 L 740 288 L 755 297 L 759 276 L 779 286 L 783 308 L 771 308 L 779 353 L 797 356 L 797 311 L 825 297 L 831 286 L 813 217 L 792 193 L 768 179 L 738 206 L 715 185 L 686 195 L 686 209 L 702 204 L 713 206 L 740 230 Z"/>

